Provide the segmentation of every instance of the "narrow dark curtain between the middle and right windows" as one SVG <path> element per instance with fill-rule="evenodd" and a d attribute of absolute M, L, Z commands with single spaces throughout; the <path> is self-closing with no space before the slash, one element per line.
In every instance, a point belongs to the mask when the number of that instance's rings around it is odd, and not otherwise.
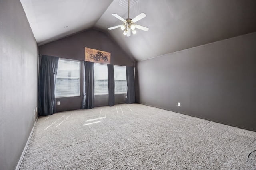
<path fill-rule="evenodd" d="M 115 105 L 114 65 L 108 64 L 108 105 Z"/>

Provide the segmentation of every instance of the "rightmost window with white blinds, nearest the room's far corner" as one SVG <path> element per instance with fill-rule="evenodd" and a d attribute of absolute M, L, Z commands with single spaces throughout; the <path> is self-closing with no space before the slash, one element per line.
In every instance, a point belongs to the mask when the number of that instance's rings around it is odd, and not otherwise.
<path fill-rule="evenodd" d="M 127 93 L 126 67 L 114 66 L 115 94 Z"/>

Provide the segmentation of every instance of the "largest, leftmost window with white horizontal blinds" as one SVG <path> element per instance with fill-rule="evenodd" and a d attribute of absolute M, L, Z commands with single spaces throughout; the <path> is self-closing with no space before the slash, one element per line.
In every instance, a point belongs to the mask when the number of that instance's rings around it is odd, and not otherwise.
<path fill-rule="evenodd" d="M 80 61 L 59 59 L 55 97 L 80 96 Z"/>

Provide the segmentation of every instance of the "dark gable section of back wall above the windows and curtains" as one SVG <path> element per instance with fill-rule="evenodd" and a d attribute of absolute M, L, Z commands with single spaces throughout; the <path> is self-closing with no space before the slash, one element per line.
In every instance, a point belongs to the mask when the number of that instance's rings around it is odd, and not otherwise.
<path fill-rule="evenodd" d="M 90 29 L 41 45 L 39 53 L 67 59 L 84 60 L 85 47 L 111 53 L 111 64 L 134 66 L 134 61 L 105 33 Z"/>

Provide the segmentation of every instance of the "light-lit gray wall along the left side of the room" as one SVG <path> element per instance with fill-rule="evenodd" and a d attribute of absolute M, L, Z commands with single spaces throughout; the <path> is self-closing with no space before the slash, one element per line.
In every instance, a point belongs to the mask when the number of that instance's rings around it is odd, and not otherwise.
<path fill-rule="evenodd" d="M 37 117 L 37 44 L 19 0 L 0 1 L 0 170 L 14 170 Z"/>

